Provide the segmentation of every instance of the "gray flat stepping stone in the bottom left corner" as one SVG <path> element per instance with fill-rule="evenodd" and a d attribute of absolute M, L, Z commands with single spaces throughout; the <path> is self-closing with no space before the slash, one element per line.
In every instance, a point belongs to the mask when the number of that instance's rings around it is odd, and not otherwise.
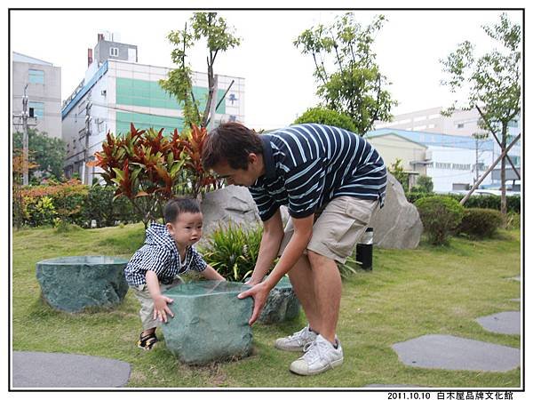
<path fill-rule="evenodd" d="M 13 388 L 122 388 L 131 366 L 110 358 L 13 351 Z"/>

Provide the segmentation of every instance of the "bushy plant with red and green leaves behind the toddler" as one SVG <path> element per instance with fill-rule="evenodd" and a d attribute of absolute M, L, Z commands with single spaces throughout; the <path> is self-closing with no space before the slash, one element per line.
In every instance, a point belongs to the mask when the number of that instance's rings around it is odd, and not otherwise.
<path fill-rule="evenodd" d="M 191 196 L 216 188 L 217 180 L 203 171 L 200 160 L 205 128 L 193 126 L 188 134 L 177 129 L 170 137 L 163 129 L 137 130 L 133 124 L 123 136 L 107 133 L 91 166 L 98 166 L 107 185 L 116 187 L 115 197 L 126 196 L 145 227 L 163 216 L 164 203 L 177 194 Z"/>

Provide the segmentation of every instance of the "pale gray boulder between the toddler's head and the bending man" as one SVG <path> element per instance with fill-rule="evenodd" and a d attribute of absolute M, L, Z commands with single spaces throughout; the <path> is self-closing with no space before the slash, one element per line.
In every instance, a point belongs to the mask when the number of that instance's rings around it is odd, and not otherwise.
<path fill-rule="evenodd" d="M 208 236 L 219 223 L 234 222 L 248 226 L 259 223 L 258 207 L 248 188 L 230 185 L 208 192 L 202 200 L 203 234 Z"/>

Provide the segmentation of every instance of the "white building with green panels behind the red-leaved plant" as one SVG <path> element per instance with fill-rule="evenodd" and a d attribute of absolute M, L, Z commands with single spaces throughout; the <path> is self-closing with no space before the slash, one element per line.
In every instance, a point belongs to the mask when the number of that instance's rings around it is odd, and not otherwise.
<path fill-rule="evenodd" d="M 109 41 L 103 35 L 99 35 L 94 53 L 92 60 L 89 49 L 84 80 L 64 101 L 61 110 L 63 140 L 68 151 L 65 173 L 67 176 L 78 173 L 85 183 L 90 183 L 95 173 L 93 167 L 85 172 L 85 149 L 90 160 L 101 149 L 107 132 L 129 132 L 131 123 L 138 129 L 164 128 L 166 134 L 183 128 L 180 105 L 158 83 L 168 78 L 171 68 L 139 64 L 136 46 Z M 218 100 L 230 84 L 225 100 L 216 110 L 215 124 L 244 122 L 243 78 L 219 76 Z M 207 74 L 194 72 L 193 92 L 201 103 L 200 109 L 207 99 L 207 86 Z"/>

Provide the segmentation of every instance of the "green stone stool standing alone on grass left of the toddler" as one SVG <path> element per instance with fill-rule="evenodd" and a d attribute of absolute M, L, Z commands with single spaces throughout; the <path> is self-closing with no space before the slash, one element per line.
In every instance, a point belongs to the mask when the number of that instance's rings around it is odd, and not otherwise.
<path fill-rule="evenodd" d="M 44 300 L 52 308 L 79 312 L 84 308 L 112 308 L 128 292 L 124 267 L 119 257 L 86 255 L 42 260 L 36 277 Z"/>

